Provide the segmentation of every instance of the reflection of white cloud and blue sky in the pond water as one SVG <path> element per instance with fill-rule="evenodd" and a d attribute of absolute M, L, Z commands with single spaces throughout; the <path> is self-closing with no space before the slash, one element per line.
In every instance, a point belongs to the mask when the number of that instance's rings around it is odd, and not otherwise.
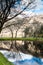
<path fill-rule="evenodd" d="M 0 50 L 4 56 L 15 65 L 43 65 L 43 59 L 33 57 L 32 55 L 26 55 L 21 52 L 9 52 L 6 50 Z"/>

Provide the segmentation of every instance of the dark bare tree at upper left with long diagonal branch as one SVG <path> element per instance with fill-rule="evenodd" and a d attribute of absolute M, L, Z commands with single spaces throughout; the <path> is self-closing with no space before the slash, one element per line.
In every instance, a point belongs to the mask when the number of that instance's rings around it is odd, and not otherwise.
<path fill-rule="evenodd" d="M 22 0 L 20 0 L 20 2 L 21 1 Z M 29 1 L 30 2 L 28 2 L 28 4 L 23 8 L 23 10 L 21 10 L 19 13 L 14 15 L 12 18 L 8 19 L 8 16 L 9 16 L 10 11 L 11 11 L 10 10 L 11 7 L 13 5 L 15 5 L 16 2 L 19 2 L 19 0 L 0 0 L 0 32 L 1 32 L 2 27 L 3 27 L 5 22 L 7 22 L 7 21 L 13 19 L 14 17 L 18 16 L 19 14 L 21 14 L 30 4 L 32 4 L 34 2 L 34 0 L 29 0 Z M 14 7 L 14 9 L 15 9 L 15 7 Z"/>

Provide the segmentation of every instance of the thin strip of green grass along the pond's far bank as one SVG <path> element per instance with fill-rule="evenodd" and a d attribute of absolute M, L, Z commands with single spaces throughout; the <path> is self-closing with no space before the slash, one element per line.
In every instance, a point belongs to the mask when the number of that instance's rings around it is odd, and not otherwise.
<path fill-rule="evenodd" d="M 29 38 L 7 38 L 7 37 L 3 37 L 3 38 L 0 38 L 0 41 L 11 41 L 11 40 L 23 40 L 23 41 L 43 41 L 43 38 L 41 37 L 29 37 Z"/>

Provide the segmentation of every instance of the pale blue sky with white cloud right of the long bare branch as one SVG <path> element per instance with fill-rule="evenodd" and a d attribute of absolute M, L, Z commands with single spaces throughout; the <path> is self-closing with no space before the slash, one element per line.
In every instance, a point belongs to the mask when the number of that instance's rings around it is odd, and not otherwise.
<path fill-rule="evenodd" d="M 34 9 L 29 9 L 28 7 L 23 13 L 26 14 L 26 16 L 43 14 L 43 0 L 36 0 L 36 7 Z"/>

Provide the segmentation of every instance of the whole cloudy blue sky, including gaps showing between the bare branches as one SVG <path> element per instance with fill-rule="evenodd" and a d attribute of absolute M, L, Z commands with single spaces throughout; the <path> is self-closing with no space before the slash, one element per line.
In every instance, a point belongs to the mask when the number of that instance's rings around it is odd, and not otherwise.
<path fill-rule="evenodd" d="M 29 0 L 24 0 L 25 2 L 28 3 Z M 19 15 L 19 17 L 23 18 L 23 17 L 28 17 L 28 16 L 33 16 L 33 15 L 38 15 L 38 14 L 43 14 L 43 0 L 36 0 L 36 3 L 31 5 L 34 6 L 36 5 L 35 8 L 30 9 L 30 7 L 28 7 L 25 11 L 23 11 L 22 14 L 24 15 Z M 19 6 L 17 5 L 17 10 L 19 10 Z M 24 8 L 23 6 L 21 7 L 21 9 Z M 12 13 L 14 15 L 14 13 Z"/>

